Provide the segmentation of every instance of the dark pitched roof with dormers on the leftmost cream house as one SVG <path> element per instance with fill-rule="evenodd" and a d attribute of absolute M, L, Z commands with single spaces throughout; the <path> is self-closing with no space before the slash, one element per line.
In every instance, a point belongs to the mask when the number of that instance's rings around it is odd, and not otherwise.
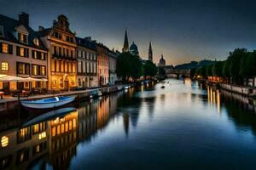
<path fill-rule="evenodd" d="M 38 37 L 38 35 L 37 35 L 37 32 L 33 31 L 30 26 L 25 26 L 26 30 L 28 31 L 28 43 L 27 44 L 20 42 L 14 36 L 16 27 L 21 26 L 19 20 L 15 20 L 15 19 L 9 18 L 8 16 L 0 14 L 0 26 L 3 26 L 3 34 L 4 34 L 4 37 L 0 37 L 0 39 L 10 41 L 10 42 L 20 43 L 22 45 L 30 46 L 32 48 L 40 48 L 40 49 L 47 50 L 47 48 L 44 47 L 43 42 L 41 42 L 39 38 L 38 38 L 39 46 L 34 44 L 33 40 L 34 40 L 34 38 Z"/>

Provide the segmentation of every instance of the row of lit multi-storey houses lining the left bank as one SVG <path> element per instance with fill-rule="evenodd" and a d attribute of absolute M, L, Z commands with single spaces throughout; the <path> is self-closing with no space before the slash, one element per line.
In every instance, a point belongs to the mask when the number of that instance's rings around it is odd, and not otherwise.
<path fill-rule="evenodd" d="M 15 20 L 0 14 L 0 74 L 45 78 L 20 82 L 21 89 L 71 90 L 114 83 L 118 51 L 91 37 L 76 37 L 67 17 L 59 15 L 50 28 L 34 31 L 29 14 Z M 17 89 L 17 82 L 0 82 L 0 89 Z"/>

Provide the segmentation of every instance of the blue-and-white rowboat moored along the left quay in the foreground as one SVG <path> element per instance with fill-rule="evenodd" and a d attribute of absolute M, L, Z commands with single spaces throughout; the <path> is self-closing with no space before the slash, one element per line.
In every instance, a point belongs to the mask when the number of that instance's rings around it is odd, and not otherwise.
<path fill-rule="evenodd" d="M 23 100 L 21 105 L 32 109 L 49 109 L 73 102 L 74 96 L 54 97 L 37 100 Z"/>

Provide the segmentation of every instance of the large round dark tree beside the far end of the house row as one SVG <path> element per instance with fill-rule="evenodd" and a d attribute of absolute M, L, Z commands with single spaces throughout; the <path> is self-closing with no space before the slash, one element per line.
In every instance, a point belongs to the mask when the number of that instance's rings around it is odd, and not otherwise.
<path fill-rule="evenodd" d="M 130 53 L 119 54 L 116 72 L 123 82 L 128 82 L 130 78 L 137 79 L 142 76 L 142 63 Z"/>

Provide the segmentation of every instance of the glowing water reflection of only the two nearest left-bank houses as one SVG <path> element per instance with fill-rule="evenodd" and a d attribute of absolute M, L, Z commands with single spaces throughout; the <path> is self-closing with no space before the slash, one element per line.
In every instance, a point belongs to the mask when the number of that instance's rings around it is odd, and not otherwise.
<path fill-rule="evenodd" d="M 76 150 L 77 122 L 78 112 L 73 111 L 55 120 L 0 133 L 1 169 L 26 169 L 44 156 L 49 156 L 53 167 L 67 168 Z"/>

